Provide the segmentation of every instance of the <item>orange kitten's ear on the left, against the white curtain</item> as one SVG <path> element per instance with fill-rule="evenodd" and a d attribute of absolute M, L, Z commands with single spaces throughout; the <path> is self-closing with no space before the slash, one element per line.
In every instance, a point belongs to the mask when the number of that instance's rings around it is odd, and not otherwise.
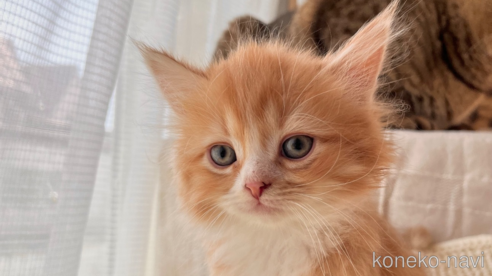
<path fill-rule="evenodd" d="M 135 44 L 161 92 L 175 111 L 180 109 L 180 99 L 189 97 L 197 85 L 206 80 L 203 71 L 176 60 L 170 54 L 138 42 Z"/>

